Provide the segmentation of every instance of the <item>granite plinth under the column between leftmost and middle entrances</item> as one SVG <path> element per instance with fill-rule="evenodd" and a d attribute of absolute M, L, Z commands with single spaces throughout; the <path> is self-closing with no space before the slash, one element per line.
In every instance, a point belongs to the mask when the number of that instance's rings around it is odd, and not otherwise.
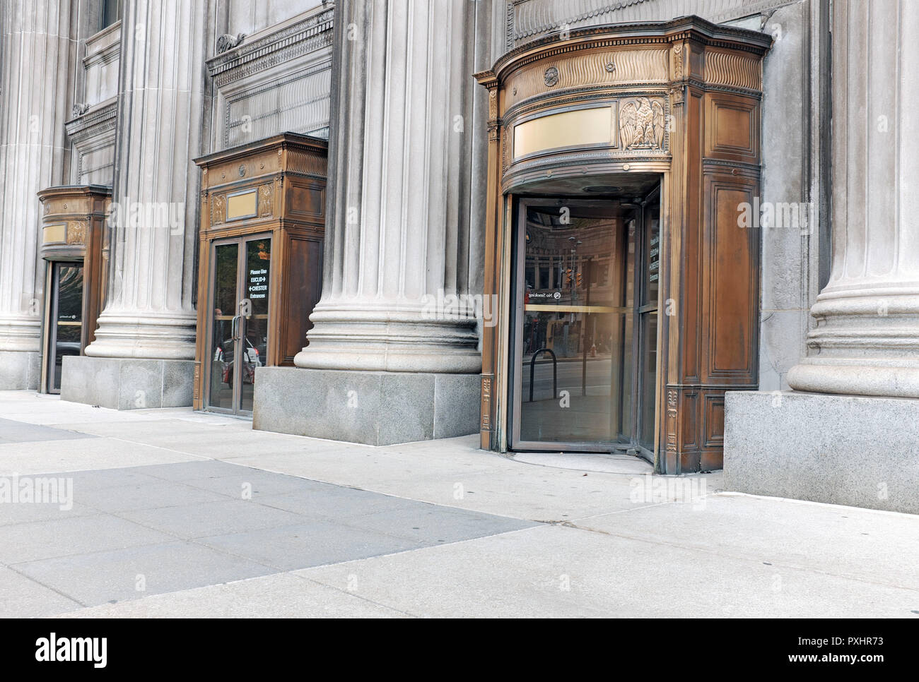
<path fill-rule="evenodd" d="M 194 392 L 192 360 L 63 358 L 61 399 L 100 408 L 187 408 Z"/>

